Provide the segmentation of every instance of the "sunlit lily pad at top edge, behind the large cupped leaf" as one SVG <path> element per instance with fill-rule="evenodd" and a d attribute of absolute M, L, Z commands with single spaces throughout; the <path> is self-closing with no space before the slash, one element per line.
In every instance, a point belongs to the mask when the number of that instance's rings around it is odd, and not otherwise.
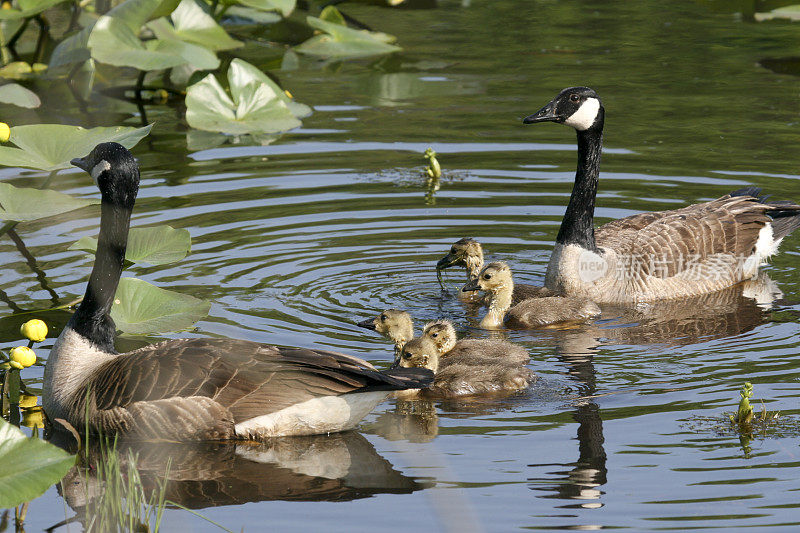
<path fill-rule="evenodd" d="M 230 50 L 243 45 L 242 42 L 232 39 L 194 0 L 183 0 L 170 18 L 172 24 L 166 18 L 160 18 L 150 22 L 147 27 L 159 39 L 186 41 L 214 51 Z"/>

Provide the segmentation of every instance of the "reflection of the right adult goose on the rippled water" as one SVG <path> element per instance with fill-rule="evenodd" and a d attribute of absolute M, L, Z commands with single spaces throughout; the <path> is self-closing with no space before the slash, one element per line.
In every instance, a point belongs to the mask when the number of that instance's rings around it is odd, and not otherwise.
<path fill-rule="evenodd" d="M 528 478 L 543 498 L 575 500 L 563 508 L 602 507 L 601 487 L 607 482 L 603 418 L 591 398 L 597 393 L 594 356 L 601 345 L 661 344 L 678 346 L 731 337 L 770 320 L 769 311 L 782 298 L 764 273 L 729 289 L 695 298 L 629 308 L 603 308 L 615 318 L 578 329 L 540 330 L 539 340 L 552 342 L 580 399 L 571 413 L 578 424 L 578 457 L 566 464 L 530 464 L 544 473 Z M 554 467 L 557 469 L 553 470 Z"/>

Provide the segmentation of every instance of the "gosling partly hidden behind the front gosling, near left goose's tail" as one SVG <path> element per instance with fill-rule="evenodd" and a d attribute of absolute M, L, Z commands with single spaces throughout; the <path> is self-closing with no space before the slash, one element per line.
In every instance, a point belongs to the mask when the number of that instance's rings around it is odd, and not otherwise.
<path fill-rule="evenodd" d="M 461 339 L 456 338 L 456 328 L 449 320 L 434 320 L 425 324 L 422 336 L 430 338 L 443 359 L 475 360 L 477 357 L 503 360 L 514 363 L 527 363 L 528 351 L 508 341 L 500 339 Z"/>

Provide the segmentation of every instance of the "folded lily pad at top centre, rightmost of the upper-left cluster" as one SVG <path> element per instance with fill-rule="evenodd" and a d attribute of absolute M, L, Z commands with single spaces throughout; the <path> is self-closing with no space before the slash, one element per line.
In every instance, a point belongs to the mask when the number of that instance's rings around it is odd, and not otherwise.
<path fill-rule="evenodd" d="M 367 57 L 402 50 L 390 44 L 395 38 L 385 33 L 354 30 L 316 17 L 306 17 L 306 22 L 323 32 L 295 47 L 295 50 L 306 55 L 325 58 Z"/>

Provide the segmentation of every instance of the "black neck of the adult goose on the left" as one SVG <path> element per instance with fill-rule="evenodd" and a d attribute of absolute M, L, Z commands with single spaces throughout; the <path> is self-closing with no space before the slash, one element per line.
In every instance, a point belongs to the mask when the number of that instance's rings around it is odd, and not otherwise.
<path fill-rule="evenodd" d="M 83 301 L 68 324 L 95 346 L 109 353 L 116 353 L 116 328 L 110 312 L 125 261 L 132 207 L 109 201 L 104 195 L 94 268 Z"/>

